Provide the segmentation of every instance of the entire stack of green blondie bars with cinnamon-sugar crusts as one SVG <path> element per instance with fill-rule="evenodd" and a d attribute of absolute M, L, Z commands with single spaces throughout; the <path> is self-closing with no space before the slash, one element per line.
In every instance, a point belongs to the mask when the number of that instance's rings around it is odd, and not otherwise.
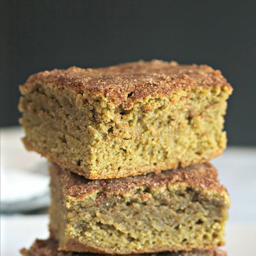
<path fill-rule="evenodd" d="M 226 255 L 232 87 L 209 66 L 149 61 L 54 69 L 20 87 L 23 142 L 52 162 L 50 238 L 27 256 Z"/>

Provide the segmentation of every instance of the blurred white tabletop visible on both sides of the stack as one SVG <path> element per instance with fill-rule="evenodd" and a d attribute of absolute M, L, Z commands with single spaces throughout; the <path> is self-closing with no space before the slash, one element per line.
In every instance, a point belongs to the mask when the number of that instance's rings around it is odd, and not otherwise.
<path fill-rule="evenodd" d="M 1 168 L 46 172 L 44 158 L 27 152 L 20 141 L 20 128 L 2 128 Z M 211 161 L 231 197 L 226 241 L 229 256 L 256 255 L 256 148 L 229 147 Z M 47 215 L 1 216 L 0 255 L 16 256 L 35 238 L 47 238 Z"/>

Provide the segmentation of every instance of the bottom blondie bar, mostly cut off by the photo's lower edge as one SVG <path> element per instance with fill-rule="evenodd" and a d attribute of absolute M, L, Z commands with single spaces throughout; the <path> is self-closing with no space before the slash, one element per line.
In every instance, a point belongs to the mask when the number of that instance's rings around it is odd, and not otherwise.
<path fill-rule="evenodd" d="M 29 249 L 21 249 L 23 256 L 102 256 L 95 253 L 79 253 L 58 251 L 58 243 L 54 239 L 39 240 L 37 239 Z M 216 250 L 194 250 L 194 251 L 178 251 L 163 252 L 154 254 L 141 254 L 136 256 L 227 256 L 227 254 L 219 249 Z"/>

